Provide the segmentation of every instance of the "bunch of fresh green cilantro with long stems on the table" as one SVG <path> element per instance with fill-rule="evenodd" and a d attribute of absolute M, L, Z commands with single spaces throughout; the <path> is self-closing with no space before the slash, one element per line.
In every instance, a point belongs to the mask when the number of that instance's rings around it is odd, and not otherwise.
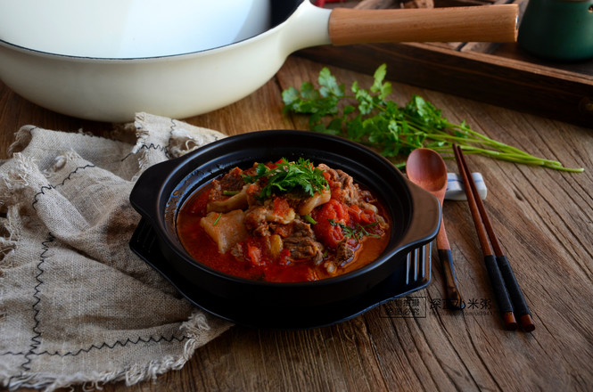
<path fill-rule="evenodd" d="M 366 144 L 391 159 L 407 156 L 420 147 L 453 155 L 452 144 L 457 143 L 465 153 L 556 170 L 583 171 L 497 142 L 474 131 L 465 121 L 453 124 L 421 96 L 413 95 L 406 105 L 399 106 L 387 100 L 391 83 L 384 81 L 385 75 L 383 64 L 376 69 L 370 88 L 361 88 L 354 82 L 351 94 L 346 94 L 346 87 L 338 84 L 329 69 L 321 69 L 317 80 L 319 88 L 311 82 L 303 82 L 301 90 L 295 87 L 284 90 L 284 112 L 308 114 L 311 130 Z M 403 167 L 405 162 L 396 166 Z"/>

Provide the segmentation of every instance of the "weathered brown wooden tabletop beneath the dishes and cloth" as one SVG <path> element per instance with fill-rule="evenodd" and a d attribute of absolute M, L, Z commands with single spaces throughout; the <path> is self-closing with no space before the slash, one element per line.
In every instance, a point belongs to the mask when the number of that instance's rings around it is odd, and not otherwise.
<path fill-rule="evenodd" d="M 324 65 L 292 56 L 275 78 L 243 101 L 185 121 L 227 135 L 307 129 L 305 118 L 282 114 L 281 92 L 315 80 Z M 363 86 L 371 81 L 347 69 L 331 70 L 347 86 L 355 79 Z M 444 219 L 465 310 L 443 308 L 443 277 L 434 250 L 432 282 L 413 294 L 426 306 L 421 316 L 399 317 L 387 304 L 308 331 L 235 326 L 198 349 L 180 371 L 103 390 L 593 390 L 591 129 L 394 83 L 395 101 L 407 102 L 411 94 L 421 94 L 450 120 L 466 119 L 485 135 L 567 167 L 585 167 L 584 173 L 571 174 L 467 158 L 489 187 L 486 208 L 531 307 L 535 331 L 503 329 L 467 203 L 446 201 Z M 97 134 L 110 128 L 39 108 L 0 83 L 0 159 L 8 158 L 13 132 L 27 124 Z M 457 172 L 454 161 L 447 164 Z"/>

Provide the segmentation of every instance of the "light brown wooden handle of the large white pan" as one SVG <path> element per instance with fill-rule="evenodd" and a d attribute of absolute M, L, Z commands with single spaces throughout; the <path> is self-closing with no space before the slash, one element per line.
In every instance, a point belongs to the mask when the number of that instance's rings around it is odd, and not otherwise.
<path fill-rule="evenodd" d="M 515 42 L 517 4 L 448 8 L 352 10 L 329 19 L 334 45 L 380 42 Z"/>

